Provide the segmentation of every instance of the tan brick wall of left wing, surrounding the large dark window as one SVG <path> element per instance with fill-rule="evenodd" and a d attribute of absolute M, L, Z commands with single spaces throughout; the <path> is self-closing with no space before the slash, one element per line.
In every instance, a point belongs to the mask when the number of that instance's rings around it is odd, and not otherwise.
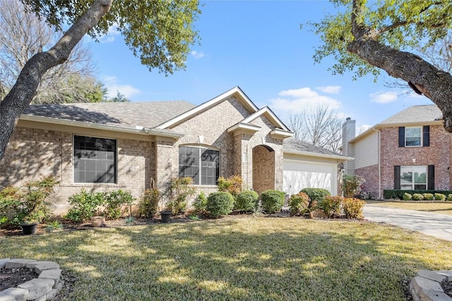
<path fill-rule="evenodd" d="M 73 183 L 73 134 L 18 127 L 0 162 L 0 185 L 23 185 L 40 176 L 55 176 L 60 181 L 52 195 L 55 214 L 66 213 L 68 197 L 82 188 L 126 189 L 139 198 L 155 176 L 155 147 L 151 142 L 128 139 L 117 139 L 117 147 L 117 184 Z"/>

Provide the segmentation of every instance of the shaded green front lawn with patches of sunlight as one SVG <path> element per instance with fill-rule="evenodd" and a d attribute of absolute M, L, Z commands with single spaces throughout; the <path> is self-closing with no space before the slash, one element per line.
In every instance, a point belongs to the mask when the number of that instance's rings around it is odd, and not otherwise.
<path fill-rule="evenodd" d="M 246 218 L 0 238 L 0 257 L 59 262 L 65 300 L 405 300 L 452 242 L 367 221 Z"/>

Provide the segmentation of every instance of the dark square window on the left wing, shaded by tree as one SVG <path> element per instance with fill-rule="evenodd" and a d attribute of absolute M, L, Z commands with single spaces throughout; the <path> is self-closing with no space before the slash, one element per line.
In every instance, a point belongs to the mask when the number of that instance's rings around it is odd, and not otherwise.
<path fill-rule="evenodd" d="M 74 135 L 74 183 L 117 183 L 116 158 L 116 140 Z"/>

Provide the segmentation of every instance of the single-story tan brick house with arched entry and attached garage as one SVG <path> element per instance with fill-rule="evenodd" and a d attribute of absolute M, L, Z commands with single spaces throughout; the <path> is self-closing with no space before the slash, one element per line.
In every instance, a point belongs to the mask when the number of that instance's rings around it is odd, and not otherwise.
<path fill-rule="evenodd" d="M 338 192 L 338 164 L 347 158 L 292 138 L 268 107 L 258 109 L 234 87 L 199 106 L 188 102 L 49 104 L 29 106 L 0 162 L 0 186 L 54 175 L 57 213 L 67 198 L 89 191 L 131 190 L 152 180 L 194 178 L 198 191 L 218 177 L 239 175 L 244 189 L 304 187 Z"/>

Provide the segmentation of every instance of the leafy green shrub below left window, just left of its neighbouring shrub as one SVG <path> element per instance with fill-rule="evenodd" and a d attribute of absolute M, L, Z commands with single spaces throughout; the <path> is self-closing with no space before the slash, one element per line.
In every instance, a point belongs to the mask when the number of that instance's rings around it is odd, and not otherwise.
<path fill-rule="evenodd" d="M 104 204 L 104 195 L 103 192 L 86 192 L 85 188 L 82 188 L 81 192 L 69 197 L 68 202 L 73 207 L 64 218 L 76 222 L 91 219 L 98 214 L 97 207 Z"/>

